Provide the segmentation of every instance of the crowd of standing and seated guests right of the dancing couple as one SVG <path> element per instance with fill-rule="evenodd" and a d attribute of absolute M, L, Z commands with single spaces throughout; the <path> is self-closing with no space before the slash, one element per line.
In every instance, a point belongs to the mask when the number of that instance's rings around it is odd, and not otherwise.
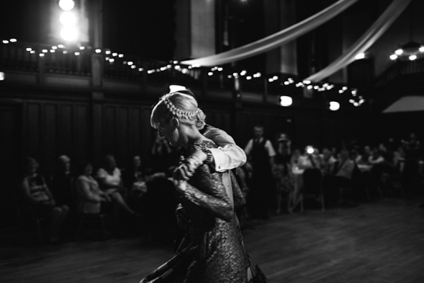
<path fill-rule="evenodd" d="M 317 186 L 327 208 L 345 201 L 341 198 L 343 189 L 349 190 L 348 203 L 352 205 L 423 193 L 424 162 L 413 133 L 399 141 L 389 138 L 375 145 L 353 141 L 340 149 L 319 150 L 314 146 L 298 149 L 285 133 L 271 142 L 264 138 L 264 127 L 257 126 L 245 152 L 248 162 L 237 169 L 237 176 L 247 195 L 243 214 L 247 223 L 249 219 L 263 221 L 273 214 L 292 213 L 300 202 L 295 195 L 305 190 L 302 173 L 310 170 L 319 171 Z"/>

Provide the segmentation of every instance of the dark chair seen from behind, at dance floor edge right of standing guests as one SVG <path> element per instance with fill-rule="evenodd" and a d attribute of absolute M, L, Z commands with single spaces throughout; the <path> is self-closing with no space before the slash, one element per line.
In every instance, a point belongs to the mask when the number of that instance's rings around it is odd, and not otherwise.
<path fill-rule="evenodd" d="M 303 212 L 305 198 L 313 198 L 321 203 L 322 212 L 325 212 L 324 194 L 322 191 L 322 173 L 318 168 L 307 168 L 303 172 L 303 186 L 300 195 L 300 211 Z"/>

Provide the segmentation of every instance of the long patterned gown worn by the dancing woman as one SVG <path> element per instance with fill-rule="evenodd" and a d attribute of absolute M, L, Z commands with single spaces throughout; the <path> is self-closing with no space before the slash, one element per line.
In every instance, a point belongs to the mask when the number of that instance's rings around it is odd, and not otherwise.
<path fill-rule="evenodd" d="M 210 141 L 196 141 L 187 149 L 186 156 L 214 147 Z M 177 195 L 190 219 L 188 233 L 175 257 L 141 283 L 266 282 L 243 246 L 235 215 L 235 209 L 245 204 L 242 191 L 231 174 L 233 207 L 222 177 L 222 173 L 211 173 L 207 165 L 196 170 L 187 190 Z"/>

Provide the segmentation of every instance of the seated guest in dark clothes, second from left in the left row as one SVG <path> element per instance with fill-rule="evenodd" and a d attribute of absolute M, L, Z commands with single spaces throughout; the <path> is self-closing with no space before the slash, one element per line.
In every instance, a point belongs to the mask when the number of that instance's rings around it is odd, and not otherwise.
<path fill-rule="evenodd" d="M 57 173 L 52 177 L 52 195 L 57 204 L 66 204 L 71 212 L 74 209 L 72 198 L 71 159 L 62 155 L 57 163 Z"/>

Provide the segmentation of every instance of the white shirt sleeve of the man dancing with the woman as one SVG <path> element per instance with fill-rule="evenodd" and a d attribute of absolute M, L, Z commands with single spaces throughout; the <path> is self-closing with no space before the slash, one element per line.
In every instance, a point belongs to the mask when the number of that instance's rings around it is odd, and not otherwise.
<path fill-rule="evenodd" d="M 245 151 L 222 129 L 212 128 L 206 132 L 205 137 L 212 139 L 219 146 L 218 149 L 208 149 L 213 156 L 215 171 L 224 172 L 246 163 Z"/>

